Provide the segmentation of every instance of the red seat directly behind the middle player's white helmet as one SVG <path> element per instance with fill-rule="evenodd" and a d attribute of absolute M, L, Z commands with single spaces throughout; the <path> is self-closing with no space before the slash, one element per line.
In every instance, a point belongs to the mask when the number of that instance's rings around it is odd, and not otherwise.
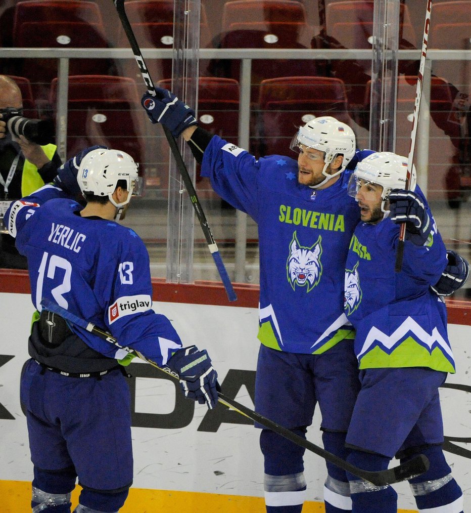
<path fill-rule="evenodd" d="M 349 124 L 345 85 L 338 78 L 292 76 L 260 84 L 259 152 L 289 152 L 297 129 L 314 117 L 332 115 Z"/>

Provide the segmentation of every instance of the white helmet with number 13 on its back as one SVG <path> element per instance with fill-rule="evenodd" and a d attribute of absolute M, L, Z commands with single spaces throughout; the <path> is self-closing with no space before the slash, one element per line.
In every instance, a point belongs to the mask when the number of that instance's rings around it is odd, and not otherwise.
<path fill-rule="evenodd" d="M 116 203 L 113 192 L 120 180 L 126 182 L 129 191 L 126 201 Z M 128 153 L 119 150 L 98 148 L 85 155 L 80 162 L 77 181 L 82 194 L 108 196 L 110 202 L 118 209 L 127 205 L 131 196 L 140 196 L 143 182 L 138 176 L 138 165 Z"/>

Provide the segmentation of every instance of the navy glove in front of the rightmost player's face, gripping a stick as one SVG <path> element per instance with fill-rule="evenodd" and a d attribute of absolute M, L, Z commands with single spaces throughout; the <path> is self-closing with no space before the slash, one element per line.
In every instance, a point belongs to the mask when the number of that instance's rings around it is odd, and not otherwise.
<path fill-rule="evenodd" d="M 391 221 L 405 223 L 405 239 L 416 246 L 424 246 L 432 230 L 432 223 L 420 196 L 412 191 L 393 189 L 388 198 Z"/>

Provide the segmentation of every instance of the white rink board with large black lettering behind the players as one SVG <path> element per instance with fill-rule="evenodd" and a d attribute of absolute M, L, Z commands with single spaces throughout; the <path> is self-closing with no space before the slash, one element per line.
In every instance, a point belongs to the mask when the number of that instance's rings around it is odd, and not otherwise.
<path fill-rule="evenodd" d="M 172 320 L 185 345 L 208 349 L 219 382 L 230 369 L 255 370 L 259 345 L 256 309 L 159 302 L 153 307 Z M 29 295 L 0 293 L 0 354 L 14 356 L 0 366 L 0 403 L 15 418 L 0 420 L 0 480 L 32 478 L 26 421 L 19 405 L 19 376 L 28 358 L 32 312 Z M 441 390 L 445 435 L 471 441 L 471 326 L 450 325 L 449 334 L 458 372 L 450 375 L 447 382 L 465 385 L 469 391 Z M 244 386 L 235 399 L 253 409 Z M 171 382 L 136 378 L 136 412 L 169 414 L 174 405 L 175 388 Z M 206 407 L 196 405 L 193 419 L 184 428 L 133 427 L 134 487 L 263 496 L 258 430 L 223 422 L 216 432 L 198 431 L 206 413 Z M 319 422 L 316 413 L 308 438 L 321 445 Z M 471 443 L 454 443 L 471 451 Z M 448 452 L 445 455 L 463 488 L 465 511 L 471 510 L 471 452 L 468 458 Z M 325 478 L 323 460 L 306 451 L 305 466 L 307 500 L 320 501 Z M 399 507 L 414 509 L 408 484 L 400 483 L 395 488 L 399 493 Z"/>

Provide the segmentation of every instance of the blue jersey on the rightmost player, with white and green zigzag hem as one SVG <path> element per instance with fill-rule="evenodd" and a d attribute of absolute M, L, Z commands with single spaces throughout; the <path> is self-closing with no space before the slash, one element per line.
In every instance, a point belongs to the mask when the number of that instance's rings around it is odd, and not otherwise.
<path fill-rule="evenodd" d="M 416 188 L 425 205 L 426 200 Z M 433 223 L 425 246 L 404 241 L 401 272 L 395 272 L 399 225 L 386 218 L 359 223 L 345 271 L 345 313 L 356 329 L 359 367 L 429 367 L 455 372 L 443 300 L 429 290 L 447 264 Z"/>

